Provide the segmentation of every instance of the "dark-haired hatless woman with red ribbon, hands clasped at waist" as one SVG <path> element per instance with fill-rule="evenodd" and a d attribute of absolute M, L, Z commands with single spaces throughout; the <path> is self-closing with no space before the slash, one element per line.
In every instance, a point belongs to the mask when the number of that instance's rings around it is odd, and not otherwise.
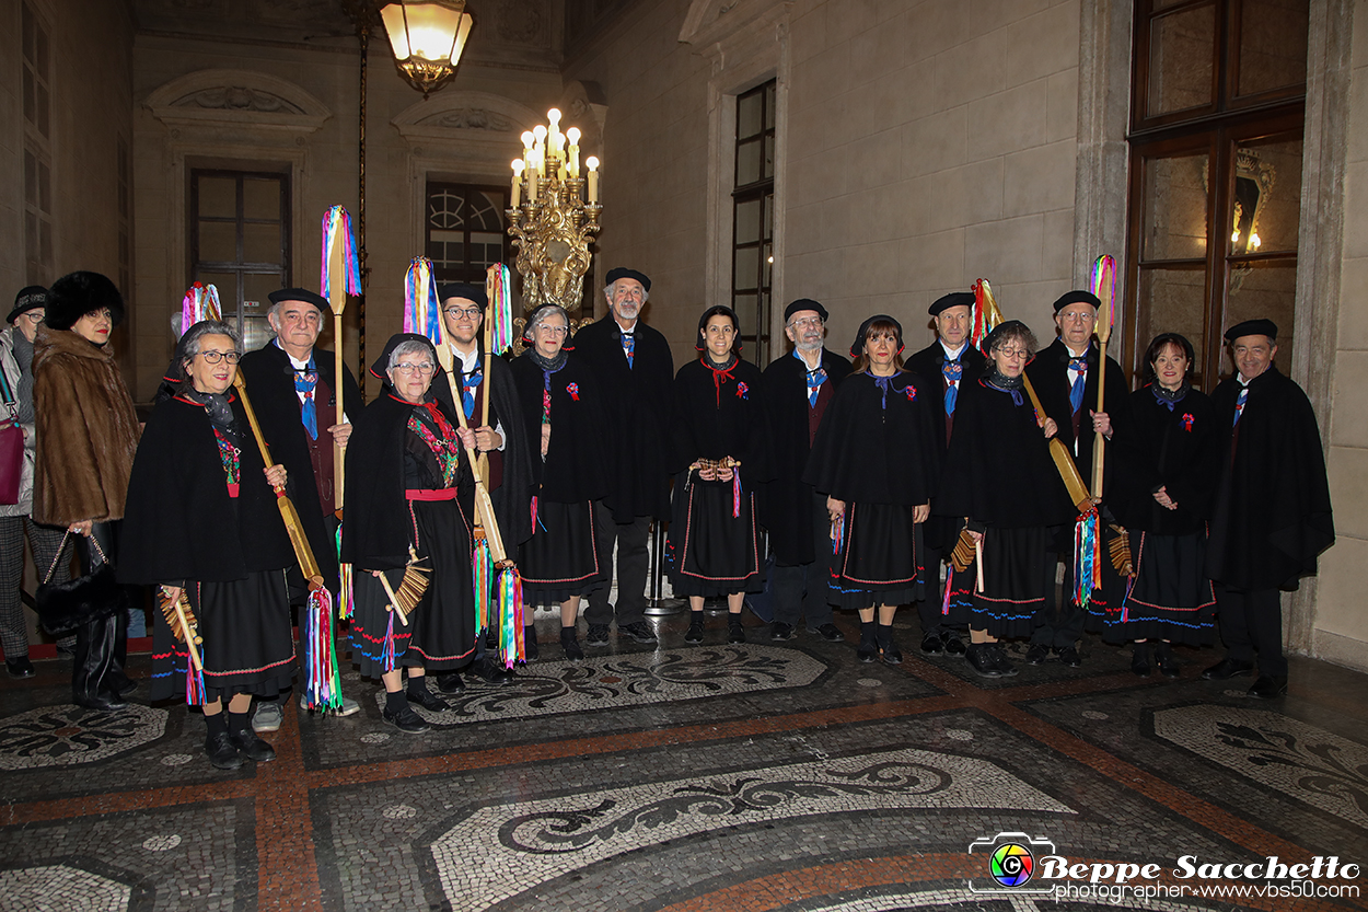
<path fill-rule="evenodd" d="M 668 560 L 688 596 L 685 642 L 703 642 L 703 600 L 726 596 L 728 642 L 746 642 L 741 605 L 762 586 L 754 486 L 769 481 L 761 371 L 740 357 L 729 307 L 698 322 L 696 362 L 674 375 L 674 504 Z M 743 481 L 744 479 L 744 481 Z"/>

